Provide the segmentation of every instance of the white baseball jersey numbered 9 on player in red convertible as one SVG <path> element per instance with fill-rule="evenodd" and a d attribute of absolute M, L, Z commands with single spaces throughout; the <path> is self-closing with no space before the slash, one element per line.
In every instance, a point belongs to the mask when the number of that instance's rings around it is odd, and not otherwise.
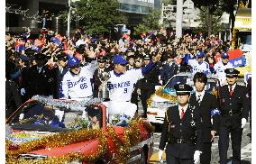
<path fill-rule="evenodd" d="M 114 70 L 112 70 L 110 76 L 111 77 L 107 80 L 110 100 L 130 101 L 134 85 L 140 78 L 142 78 L 142 69 L 127 70 L 120 77 L 116 77 L 114 75 Z"/>

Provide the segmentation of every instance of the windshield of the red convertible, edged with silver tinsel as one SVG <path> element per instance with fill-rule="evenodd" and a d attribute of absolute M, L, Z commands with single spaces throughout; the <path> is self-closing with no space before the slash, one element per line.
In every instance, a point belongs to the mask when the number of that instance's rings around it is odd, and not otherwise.
<path fill-rule="evenodd" d="M 24 105 L 10 118 L 9 125 L 16 130 L 62 131 L 92 127 L 97 122 L 102 127 L 102 110 L 94 110 L 87 106 L 78 111 L 58 108 L 54 105 L 44 105 L 32 101 Z M 88 112 L 90 111 L 90 112 Z M 95 112 L 96 111 L 96 112 Z"/>

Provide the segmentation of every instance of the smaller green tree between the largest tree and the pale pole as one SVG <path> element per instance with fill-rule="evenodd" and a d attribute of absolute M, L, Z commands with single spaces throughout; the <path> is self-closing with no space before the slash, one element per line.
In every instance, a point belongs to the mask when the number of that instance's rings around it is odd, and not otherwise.
<path fill-rule="evenodd" d="M 142 23 L 139 23 L 135 28 L 135 34 L 142 32 L 154 31 L 160 28 L 160 10 L 152 10 L 149 15 L 142 19 Z"/>

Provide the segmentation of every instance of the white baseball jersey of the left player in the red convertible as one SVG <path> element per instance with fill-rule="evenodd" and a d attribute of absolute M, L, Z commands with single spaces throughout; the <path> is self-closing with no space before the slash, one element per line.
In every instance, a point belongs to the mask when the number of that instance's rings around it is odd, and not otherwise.
<path fill-rule="evenodd" d="M 91 78 L 95 70 L 95 64 L 92 63 L 81 67 L 78 75 L 67 72 L 61 82 L 62 95 L 60 98 L 86 98 L 93 96 Z M 61 94 L 60 94 L 61 95 Z"/>

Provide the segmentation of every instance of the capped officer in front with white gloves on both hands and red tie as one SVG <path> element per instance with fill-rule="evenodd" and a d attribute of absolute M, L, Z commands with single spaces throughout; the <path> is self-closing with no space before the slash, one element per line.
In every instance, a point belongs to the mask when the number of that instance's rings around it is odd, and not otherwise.
<path fill-rule="evenodd" d="M 178 105 L 169 107 L 166 112 L 160 137 L 159 159 L 166 147 L 168 164 L 197 163 L 201 153 L 201 123 L 194 114 L 194 108 L 188 103 L 192 87 L 177 84 L 174 88 Z"/>

